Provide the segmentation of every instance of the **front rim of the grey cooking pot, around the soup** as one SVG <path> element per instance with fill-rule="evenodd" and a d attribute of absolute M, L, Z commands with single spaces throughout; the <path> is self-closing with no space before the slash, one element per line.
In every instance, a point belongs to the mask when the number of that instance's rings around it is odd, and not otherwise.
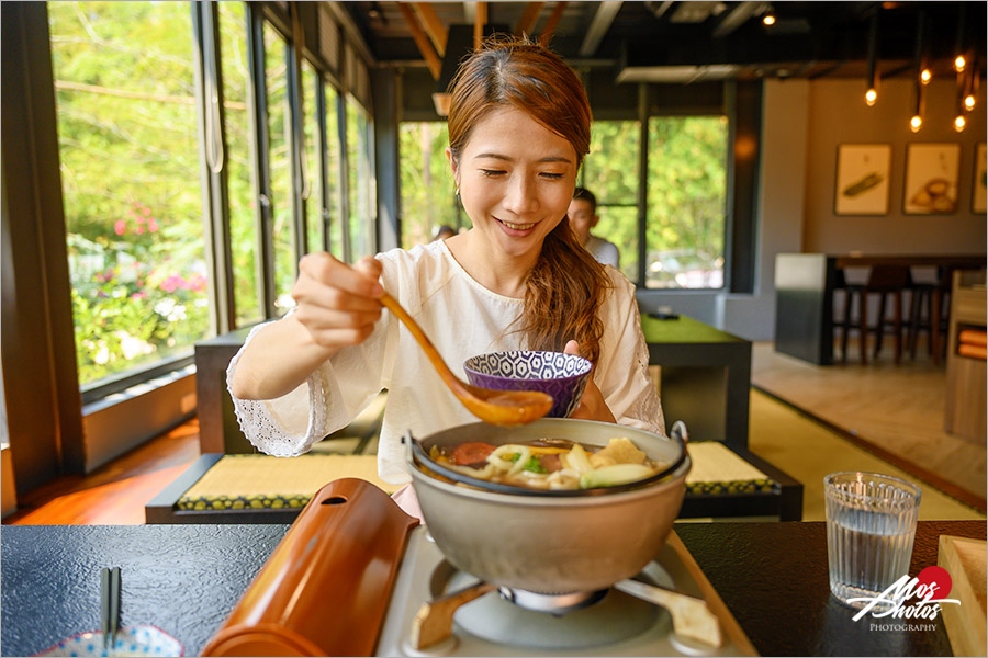
<path fill-rule="evenodd" d="M 580 422 L 599 422 L 599 421 L 580 421 Z M 599 424 L 614 426 L 614 423 L 604 423 L 599 422 Z M 467 426 L 469 427 L 469 426 Z M 615 426 L 620 427 L 620 426 Z M 641 430 L 638 428 L 628 428 L 633 429 L 639 432 L 645 432 L 645 430 Z M 649 488 L 651 485 L 661 485 L 664 480 L 674 481 L 676 479 L 676 473 L 684 466 L 684 464 L 688 463 L 688 467 L 685 473 L 688 474 L 693 468 L 693 460 L 689 458 L 688 451 L 686 450 L 686 443 L 680 436 L 662 436 L 661 434 L 655 434 L 654 432 L 648 432 L 650 434 L 654 434 L 655 436 L 661 436 L 666 441 L 674 443 L 678 447 L 678 456 L 677 458 L 666 468 L 663 468 L 655 475 L 650 477 L 636 480 L 632 483 L 628 483 L 625 485 L 616 485 L 613 487 L 594 487 L 592 489 L 529 489 L 527 487 L 519 487 L 515 485 L 505 485 L 501 483 L 491 483 L 487 480 L 483 480 L 480 478 L 471 477 L 469 475 L 464 475 L 457 470 L 452 470 L 451 468 L 447 468 L 441 464 L 437 464 L 433 461 L 428 453 L 426 453 L 425 449 L 422 446 L 422 441 L 416 439 L 412 431 L 409 430 L 405 435 L 402 436 L 402 443 L 405 444 L 406 451 L 406 460 L 408 462 L 408 466 L 413 472 L 417 470 L 418 475 L 422 475 L 425 478 L 428 478 L 433 483 L 439 484 L 448 484 L 442 480 L 431 476 L 429 473 L 426 473 L 424 468 L 431 470 L 438 475 L 441 475 L 445 478 L 452 480 L 453 487 L 457 489 L 462 489 L 462 487 L 458 487 L 458 484 L 468 485 L 474 489 L 479 489 L 486 494 L 498 494 L 498 495 L 509 495 L 512 498 L 562 498 L 562 499 L 573 499 L 573 498 L 587 498 L 587 497 L 611 497 L 617 494 L 625 494 L 628 491 L 635 491 L 638 489 Z M 428 439 L 428 436 L 426 438 Z"/>

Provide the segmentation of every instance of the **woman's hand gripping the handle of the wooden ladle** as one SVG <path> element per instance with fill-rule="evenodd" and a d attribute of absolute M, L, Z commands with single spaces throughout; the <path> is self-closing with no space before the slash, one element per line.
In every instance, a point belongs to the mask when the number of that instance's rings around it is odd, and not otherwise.
<path fill-rule="evenodd" d="M 359 344 L 381 317 L 380 275 L 381 263 L 369 256 L 352 266 L 326 252 L 304 256 L 292 287 L 297 305 L 294 318 L 315 344 L 334 353 Z"/>

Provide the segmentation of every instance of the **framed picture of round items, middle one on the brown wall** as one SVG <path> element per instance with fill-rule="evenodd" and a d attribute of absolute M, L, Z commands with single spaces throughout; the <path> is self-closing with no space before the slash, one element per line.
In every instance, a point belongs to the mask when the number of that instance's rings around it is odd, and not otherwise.
<path fill-rule="evenodd" d="M 959 144 L 906 145 L 907 215 L 951 215 L 957 211 Z"/>

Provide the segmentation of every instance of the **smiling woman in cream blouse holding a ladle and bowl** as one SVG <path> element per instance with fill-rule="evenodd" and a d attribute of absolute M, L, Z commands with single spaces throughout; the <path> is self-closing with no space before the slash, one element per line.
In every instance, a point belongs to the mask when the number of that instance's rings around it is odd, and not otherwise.
<path fill-rule="evenodd" d="M 633 286 L 576 241 L 566 209 L 590 147 L 576 75 L 527 42 L 491 42 L 452 82 L 447 149 L 473 227 L 447 240 L 363 258 L 300 261 L 285 318 L 251 332 L 227 381 L 247 438 L 291 456 L 343 428 L 386 388 L 379 473 L 407 483 L 400 436 L 476 419 L 441 383 L 378 297 L 388 290 L 454 371 L 516 349 L 594 362 L 574 418 L 664 433 Z M 462 371 L 461 371 L 462 372 Z"/>

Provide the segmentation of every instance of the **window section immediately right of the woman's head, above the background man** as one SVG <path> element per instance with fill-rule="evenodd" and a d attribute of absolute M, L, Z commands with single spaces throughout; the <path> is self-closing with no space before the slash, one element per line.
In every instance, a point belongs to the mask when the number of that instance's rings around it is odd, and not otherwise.
<path fill-rule="evenodd" d="M 638 280 L 638 149 L 637 121 L 595 121 L 591 152 L 583 160 L 581 185 L 597 198 L 600 222 L 591 231 L 617 245 L 621 272 Z"/>

